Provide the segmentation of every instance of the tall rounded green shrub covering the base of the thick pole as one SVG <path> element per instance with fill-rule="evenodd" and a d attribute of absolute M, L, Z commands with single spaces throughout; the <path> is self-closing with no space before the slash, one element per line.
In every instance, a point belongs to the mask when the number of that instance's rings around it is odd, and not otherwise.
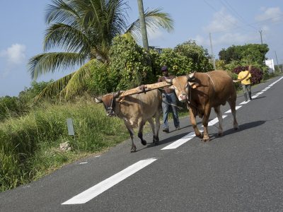
<path fill-rule="evenodd" d="M 149 54 L 132 37 L 115 37 L 109 57 L 108 77 L 112 90 L 127 90 L 155 82 Z"/>

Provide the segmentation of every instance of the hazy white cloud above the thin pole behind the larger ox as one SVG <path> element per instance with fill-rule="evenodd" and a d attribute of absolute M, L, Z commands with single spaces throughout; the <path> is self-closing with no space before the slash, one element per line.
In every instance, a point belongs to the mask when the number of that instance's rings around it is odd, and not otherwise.
<path fill-rule="evenodd" d="M 238 27 L 238 20 L 226 13 L 225 9 L 214 13 L 212 21 L 203 30 L 206 33 L 219 32 Z"/>

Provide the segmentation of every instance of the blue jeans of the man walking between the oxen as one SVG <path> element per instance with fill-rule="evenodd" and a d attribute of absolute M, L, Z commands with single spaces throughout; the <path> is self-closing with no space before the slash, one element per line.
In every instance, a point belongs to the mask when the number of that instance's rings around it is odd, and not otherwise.
<path fill-rule="evenodd" d="M 173 105 L 168 105 L 164 102 L 166 102 L 168 104 L 176 105 L 177 99 L 176 99 L 175 93 L 170 93 L 170 94 L 163 93 L 162 94 L 163 129 L 169 129 L 168 114 L 169 114 L 170 109 L 173 112 L 174 126 L 175 127 L 180 126 L 177 107 L 175 107 Z"/>

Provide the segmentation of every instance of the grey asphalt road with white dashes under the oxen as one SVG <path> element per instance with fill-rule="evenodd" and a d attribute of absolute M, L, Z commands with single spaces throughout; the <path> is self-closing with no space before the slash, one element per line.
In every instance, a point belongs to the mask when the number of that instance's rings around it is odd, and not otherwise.
<path fill-rule="evenodd" d="M 159 146 L 136 139 L 130 153 L 128 140 L 1 192 L 0 211 L 283 211 L 282 90 L 279 76 L 254 86 L 246 104 L 238 95 L 237 131 L 228 104 L 224 136 L 216 123 L 207 143 L 187 136 L 192 126 L 183 118 L 179 131 L 161 131 Z"/>

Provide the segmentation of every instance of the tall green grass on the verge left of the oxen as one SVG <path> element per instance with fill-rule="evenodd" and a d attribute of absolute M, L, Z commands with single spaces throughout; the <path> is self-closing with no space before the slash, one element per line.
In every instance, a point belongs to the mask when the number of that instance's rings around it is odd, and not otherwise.
<path fill-rule="evenodd" d="M 68 135 L 67 118 L 75 139 Z M 0 191 L 38 179 L 66 163 L 105 151 L 129 134 L 122 120 L 105 116 L 102 105 L 79 102 L 46 105 L 0 124 Z M 59 144 L 69 141 L 71 151 Z"/>

